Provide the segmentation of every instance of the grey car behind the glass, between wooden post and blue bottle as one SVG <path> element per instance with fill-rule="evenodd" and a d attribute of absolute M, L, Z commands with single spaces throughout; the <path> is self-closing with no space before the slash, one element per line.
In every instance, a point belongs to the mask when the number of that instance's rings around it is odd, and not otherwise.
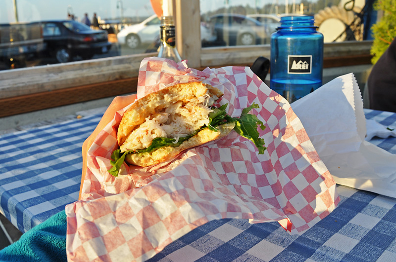
<path fill-rule="evenodd" d="M 209 18 L 214 25 L 218 39 L 223 39 L 226 45 L 251 45 L 269 43 L 265 24 L 239 14 L 217 14 Z"/>

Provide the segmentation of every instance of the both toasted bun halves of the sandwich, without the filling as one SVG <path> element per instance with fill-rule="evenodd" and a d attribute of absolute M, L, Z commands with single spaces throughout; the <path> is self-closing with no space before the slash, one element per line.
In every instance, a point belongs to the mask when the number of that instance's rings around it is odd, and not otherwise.
<path fill-rule="evenodd" d="M 187 104 L 190 100 L 196 97 L 199 98 L 205 94 L 209 94 L 214 99 L 218 99 L 223 95 L 219 89 L 211 85 L 202 82 L 190 82 L 163 88 L 136 101 L 124 113 L 118 128 L 117 140 L 121 151 L 131 150 L 132 145 L 128 142 L 131 141 L 131 138 L 128 137 L 131 135 L 132 131 L 146 121 L 148 116 L 161 112 L 178 101 Z M 126 156 L 125 160 L 129 164 L 137 166 L 150 166 L 165 162 L 174 158 L 183 150 L 197 147 L 229 134 L 234 126 L 235 123 L 220 125 L 218 126 L 219 131 L 217 132 L 205 128 L 177 147 L 168 146 L 152 152 L 130 153 Z"/>

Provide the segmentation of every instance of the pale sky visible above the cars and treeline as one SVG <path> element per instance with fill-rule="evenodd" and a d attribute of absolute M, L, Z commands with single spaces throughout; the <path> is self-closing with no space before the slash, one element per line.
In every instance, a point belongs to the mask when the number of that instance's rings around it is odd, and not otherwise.
<path fill-rule="evenodd" d="M 239 4 L 254 6 L 255 3 L 262 6 L 276 0 L 200 0 L 201 13 L 223 7 L 227 1 L 230 6 Z M 16 0 L 20 22 L 66 19 L 68 11 L 80 19 L 86 12 L 89 17 L 96 12 L 102 19 L 111 19 L 120 17 L 120 8 L 117 8 L 117 4 L 120 6 L 121 3 L 123 15 L 126 17 L 154 14 L 149 0 Z M 13 0 L 0 0 L 0 23 L 10 22 L 15 22 Z"/>

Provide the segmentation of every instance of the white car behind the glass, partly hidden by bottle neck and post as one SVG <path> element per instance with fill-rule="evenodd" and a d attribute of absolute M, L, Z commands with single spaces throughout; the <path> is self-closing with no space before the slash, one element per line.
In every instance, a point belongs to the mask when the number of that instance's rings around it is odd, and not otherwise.
<path fill-rule="evenodd" d="M 129 48 L 135 49 L 143 44 L 150 44 L 159 37 L 159 26 L 161 22 L 154 14 L 139 24 L 127 26 L 118 34 L 117 39 L 120 44 L 125 44 Z M 201 23 L 201 40 L 211 42 L 216 40 L 213 28 L 205 23 Z"/>

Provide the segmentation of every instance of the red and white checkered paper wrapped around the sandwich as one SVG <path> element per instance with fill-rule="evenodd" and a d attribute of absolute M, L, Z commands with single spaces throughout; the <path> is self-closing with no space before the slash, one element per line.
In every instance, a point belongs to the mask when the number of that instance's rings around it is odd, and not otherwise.
<path fill-rule="evenodd" d="M 199 225 L 222 218 L 278 221 L 299 233 L 335 209 L 340 201 L 335 182 L 300 120 L 248 67 L 201 72 L 188 68 L 186 61 L 146 58 L 138 98 L 188 81 L 222 90 L 218 103 L 228 103 L 232 116 L 253 102 L 260 105 L 251 112 L 266 126 L 260 130 L 265 154 L 231 132 L 168 163 L 124 165 L 124 175 L 114 178 L 106 170 L 128 107 L 117 112 L 88 151 L 82 200 L 66 207 L 68 261 L 145 261 Z"/>

